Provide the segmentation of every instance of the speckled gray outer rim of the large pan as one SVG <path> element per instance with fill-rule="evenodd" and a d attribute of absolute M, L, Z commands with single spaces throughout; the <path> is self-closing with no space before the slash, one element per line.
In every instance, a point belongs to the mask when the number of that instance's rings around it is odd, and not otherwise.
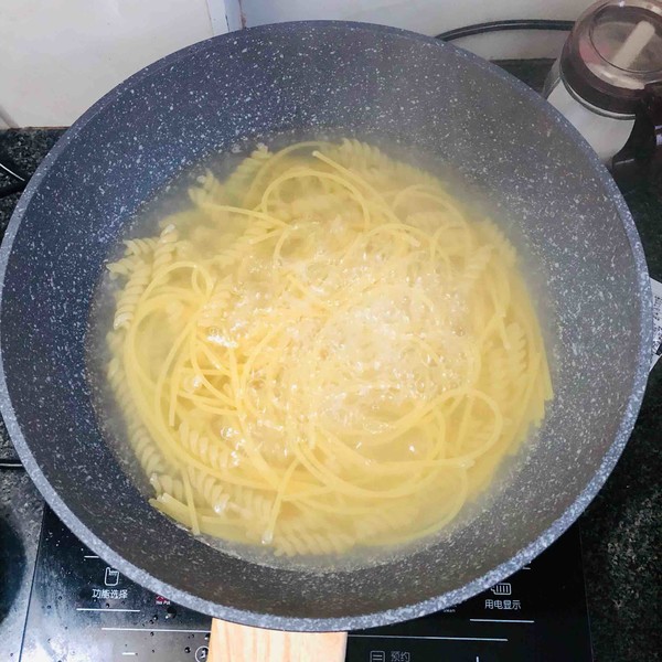
<path fill-rule="evenodd" d="M 254 35 L 259 35 L 264 32 L 274 31 L 287 31 L 292 29 L 314 29 L 320 28 L 338 28 L 339 30 L 353 30 L 353 31 L 367 31 L 382 34 L 393 34 L 397 38 L 405 40 L 413 40 L 417 42 L 424 42 L 430 45 L 430 47 L 449 49 L 458 57 L 461 57 L 472 66 L 488 71 L 492 76 L 500 78 L 504 84 L 514 88 L 519 94 L 526 97 L 532 106 L 537 107 L 541 113 L 547 115 L 548 118 L 553 119 L 556 124 L 562 126 L 562 129 L 566 132 L 574 135 L 577 142 L 577 149 L 587 159 L 587 164 L 592 167 L 594 177 L 598 183 L 602 186 L 605 193 L 613 202 L 616 211 L 620 217 L 623 229 L 626 232 L 634 267 L 638 276 L 638 302 L 640 306 L 639 310 L 639 335 L 638 335 L 638 362 L 633 372 L 632 389 L 627 402 L 624 414 L 619 424 L 618 430 L 615 435 L 615 439 L 610 445 L 607 452 L 604 455 L 602 460 L 595 471 L 592 478 L 586 485 L 586 488 L 577 495 L 575 501 L 565 510 L 565 512 L 555 520 L 542 534 L 540 534 L 533 542 L 522 548 L 520 552 L 511 556 L 508 560 L 503 562 L 489 573 L 483 574 L 480 577 L 469 581 L 458 589 L 447 591 L 440 596 L 435 596 L 412 605 L 403 605 L 401 607 L 375 611 L 371 613 L 363 613 L 360 616 L 352 617 L 334 617 L 334 618 L 301 618 L 301 617 L 287 617 L 277 616 L 273 613 L 257 613 L 249 610 L 236 609 L 234 607 L 220 605 L 211 600 L 195 597 L 185 590 L 179 589 L 170 584 L 161 581 L 153 575 L 150 575 L 142 570 L 135 564 L 126 560 L 119 553 L 115 552 L 111 547 L 106 545 L 103 540 L 97 537 L 92 530 L 89 530 L 79 519 L 75 515 L 66 505 L 66 503 L 60 498 L 57 492 L 53 489 L 44 473 L 38 466 L 32 451 L 29 448 L 25 438 L 20 429 L 17 416 L 13 409 L 13 405 L 10 399 L 9 388 L 7 385 L 7 378 L 4 374 L 4 360 L 2 352 L 2 331 L 0 328 L 0 413 L 7 425 L 7 429 L 11 437 L 11 440 L 17 449 L 17 452 L 23 462 L 28 473 L 32 481 L 39 488 L 41 494 L 44 496 L 47 504 L 54 510 L 57 516 L 64 522 L 64 524 L 78 537 L 85 545 L 89 546 L 95 553 L 102 558 L 111 563 L 114 567 L 119 569 L 124 575 L 129 577 L 131 580 L 147 587 L 159 595 L 166 595 L 175 602 L 185 606 L 188 608 L 201 611 L 203 613 L 222 618 L 225 620 L 239 622 L 248 626 L 264 627 L 270 629 L 281 630 L 298 630 L 298 631 L 332 631 L 332 630 L 350 630 L 350 629 L 362 629 L 373 628 L 378 626 L 385 626 L 398 621 L 409 620 L 440 609 L 447 608 L 451 605 L 461 602 L 481 591 L 496 584 L 498 581 L 512 575 L 514 572 L 520 569 L 522 566 L 531 562 L 535 556 L 543 552 L 549 546 L 556 538 L 558 538 L 581 514 L 586 506 L 592 501 L 597 492 L 606 482 L 608 476 L 611 473 L 616 466 L 626 444 L 630 437 L 643 398 L 645 385 L 648 382 L 648 373 L 650 366 L 650 348 L 652 346 L 652 301 L 650 280 L 648 275 L 648 266 L 643 254 L 643 248 L 639 238 L 638 231 L 634 222 L 630 214 L 630 211 L 622 199 L 616 183 L 611 179 L 606 168 L 599 161 L 597 154 L 588 146 L 588 143 L 580 137 L 576 129 L 560 116 L 551 105 L 548 105 L 541 96 L 538 96 L 533 89 L 525 84 L 516 81 L 510 74 L 503 72 L 498 66 L 468 53 L 461 49 L 439 42 L 434 38 L 428 38 L 415 32 L 407 30 L 401 30 L 397 28 L 389 28 L 383 25 L 374 25 L 371 23 L 359 23 L 350 21 L 297 21 L 291 23 L 278 23 L 270 25 L 261 25 L 258 28 L 250 28 L 236 33 L 228 33 L 225 35 L 215 36 L 191 46 L 186 46 L 180 51 L 177 51 L 153 64 L 140 70 L 127 78 L 124 83 L 108 92 L 98 102 L 96 102 L 88 110 L 86 110 L 67 131 L 57 141 L 55 147 L 49 152 L 49 154 L 41 162 L 35 174 L 30 181 L 25 192 L 19 200 L 19 203 L 11 216 L 8 225 L 4 241 L 0 247 L 0 310 L 3 302 L 3 290 L 4 290 L 4 277 L 7 273 L 7 266 L 11 254 L 11 248 L 18 233 L 19 226 L 25 214 L 30 201 L 34 195 L 35 191 L 40 186 L 40 182 L 44 179 L 50 168 L 55 163 L 57 158 L 66 150 L 70 142 L 76 139 L 78 134 L 85 128 L 85 126 L 107 106 L 111 105 L 114 100 L 125 93 L 127 93 L 137 83 L 151 76 L 156 72 L 159 72 L 163 67 L 170 66 L 180 60 L 186 58 L 193 54 L 204 52 L 207 49 L 213 49 L 216 43 L 228 39 L 235 40 L 249 40 Z"/>

